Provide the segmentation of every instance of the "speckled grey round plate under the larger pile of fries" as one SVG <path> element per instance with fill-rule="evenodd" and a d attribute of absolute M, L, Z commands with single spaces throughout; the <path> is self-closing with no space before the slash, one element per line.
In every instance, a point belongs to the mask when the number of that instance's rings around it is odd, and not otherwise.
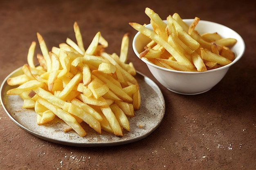
<path fill-rule="evenodd" d="M 39 126 L 36 123 L 34 109 L 23 109 L 23 101 L 18 95 L 7 96 L 6 92 L 13 88 L 7 84 L 8 77 L 22 74 L 21 68 L 13 71 L 7 76 L 1 85 L 1 104 L 11 120 L 23 130 L 47 141 L 68 146 L 115 146 L 138 141 L 150 135 L 161 123 L 165 113 L 165 102 L 159 87 L 148 77 L 137 73 L 136 79 L 140 86 L 141 109 L 135 112 L 135 117 L 129 118 L 130 132 L 124 130 L 123 137 L 116 137 L 108 132 L 102 131 L 99 135 L 87 124 L 85 128 L 87 135 L 80 137 L 74 131 L 64 132 L 67 125 L 58 118 L 48 124 Z"/>

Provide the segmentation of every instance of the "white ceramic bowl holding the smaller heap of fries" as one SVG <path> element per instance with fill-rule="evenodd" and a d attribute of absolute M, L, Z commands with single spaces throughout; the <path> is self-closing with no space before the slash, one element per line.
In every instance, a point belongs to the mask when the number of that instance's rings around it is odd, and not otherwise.
<path fill-rule="evenodd" d="M 191 24 L 194 19 L 184 19 L 187 24 Z M 166 20 L 164 20 L 166 22 Z M 151 24 L 146 25 L 152 29 Z M 228 28 L 227 26 L 214 22 L 200 20 L 195 30 L 198 33 L 214 33 L 217 32 L 223 38 L 236 38 L 236 44 L 231 48 L 234 51 L 236 58 L 230 64 L 205 72 L 186 72 L 174 71 L 167 68 L 157 66 L 144 58 L 141 58 L 146 63 L 152 75 L 168 90 L 184 95 L 195 95 L 209 91 L 213 86 L 218 84 L 225 76 L 229 67 L 235 64 L 245 52 L 245 42 L 241 36 Z M 144 46 L 150 42 L 150 39 L 138 32 L 132 42 L 132 48 L 137 57 L 144 50 Z"/>

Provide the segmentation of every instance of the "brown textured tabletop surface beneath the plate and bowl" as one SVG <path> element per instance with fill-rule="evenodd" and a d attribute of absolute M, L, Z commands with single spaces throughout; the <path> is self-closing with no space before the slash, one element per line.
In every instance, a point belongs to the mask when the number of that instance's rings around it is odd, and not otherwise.
<path fill-rule="evenodd" d="M 222 81 L 201 95 L 178 95 L 166 90 L 132 51 L 136 31 L 128 22 L 148 23 L 145 7 L 161 18 L 177 12 L 229 26 L 245 40 L 242 59 Z M 140 141 L 115 146 L 76 148 L 38 139 L 18 128 L 0 108 L 0 169 L 20 170 L 253 170 L 256 167 L 255 5 L 243 1 L 197 2 L 141 0 L 79 0 L 0 2 L 0 82 L 25 64 L 36 32 L 48 47 L 74 39 L 77 21 L 85 46 L 97 31 L 108 40 L 109 53 L 119 53 L 121 38 L 129 32 L 129 61 L 155 81 L 164 94 L 162 124 Z M 146 114 L 146 113 L 145 113 Z"/>

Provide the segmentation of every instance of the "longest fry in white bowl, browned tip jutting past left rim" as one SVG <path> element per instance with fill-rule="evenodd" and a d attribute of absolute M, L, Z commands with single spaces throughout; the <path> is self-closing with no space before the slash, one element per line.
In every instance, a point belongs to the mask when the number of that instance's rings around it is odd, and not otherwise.
<path fill-rule="evenodd" d="M 173 55 L 173 57 L 180 63 L 184 64 L 185 66 L 187 66 L 188 68 L 193 69 L 194 66 L 193 64 L 189 61 L 189 59 L 187 59 L 186 57 L 180 55 L 180 53 L 178 53 L 175 49 L 173 49 L 173 47 L 168 44 L 168 42 L 164 41 L 161 37 L 159 37 L 159 35 L 157 35 L 154 31 L 146 28 L 145 26 L 142 26 L 140 24 L 137 23 L 129 23 L 134 29 L 136 29 L 137 31 L 141 32 L 142 34 L 146 35 L 147 37 L 149 37 L 151 40 L 154 40 L 155 42 L 157 42 L 157 44 L 160 44 L 161 46 L 163 46 L 171 55 Z"/>

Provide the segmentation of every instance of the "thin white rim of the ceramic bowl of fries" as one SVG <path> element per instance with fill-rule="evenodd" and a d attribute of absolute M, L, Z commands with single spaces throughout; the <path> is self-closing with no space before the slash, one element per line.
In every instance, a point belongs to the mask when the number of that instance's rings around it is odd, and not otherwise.
<path fill-rule="evenodd" d="M 193 22 L 194 19 L 182 19 L 182 20 L 183 20 L 184 22 Z M 164 21 L 164 22 L 167 22 L 166 20 L 163 20 L 163 21 Z M 224 27 L 225 29 L 229 29 L 230 31 L 234 32 L 234 34 L 236 34 L 236 35 L 238 36 L 238 38 L 240 39 L 240 43 L 242 43 L 242 46 L 241 46 L 242 49 L 241 49 L 240 55 L 237 55 L 237 56 L 235 57 L 235 59 L 234 59 L 231 63 L 229 63 L 229 64 L 227 64 L 227 65 L 225 65 L 225 66 L 219 67 L 219 68 L 214 68 L 214 69 L 212 69 L 212 70 L 207 70 L 207 71 L 204 71 L 204 72 L 199 72 L 199 71 L 178 71 L 178 70 L 171 70 L 171 69 L 168 69 L 168 68 L 164 68 L 164 67 L 161 67 L 161 66 L 157 66 L 157 65 L 155 65 L 155 64 L 153 64 L 153 63 L 151 63 L 151 62 L 149 62 L 148 60 L 146 60 L 144 57 L 139 58 L 139 52 L 138 52 L 138 51 L 136 50 L 136 48 L 135 48 L 135 40 L 137 39 L 137 37 L 138 37 L 140 34 L 142 34 L 142 33 L 139 32 L 139 31 L 135 34 L 135 36 L 134 36 L 134 38 L 133 38 L 133 40 L 132 40 L 132 49 L 133 49 L 134 53 L 137 55 L 137 57 L 138 57 L 140 60 L 142 60 L 144 63 L 146 63 L 147 65 L 153 66 L 153 67 L 155 67 L 155 68 L 157 68 L 157 69 L 160 69 L 160 70 L 162 70 L 162 71 L 167 71 L 167 72 L 172 72 L 172 73 L 181 73 L 181 74 L 204 74 L 204 73 L 210 73 L 210 72 L 214 72 L 214 71 L 219 71 L 219 70 L 222 70 L 222 69 L 228 69 L 231 65 L 235 64 L 236 62 L 238 62 L 238 60 L 240 60 L 240 58 L 241 58 L 241 57 L 243 56 L 243 54 L 245 53 L 245 42 L 244 42 L 243 38 L 242 38 L 236 31 L 234 31 L 233 29 L 231 29 L 231 28 L 229 28 L 229 27 L 227 27 L 227 26 L 225 26 L 225 25 L 222 25 L 222 24 L 219 24 L 219 23 L 216 23 L 216 22 L 207 21 L 207 20 L 200 20 L 198 24 L 200 24 L 200 23 L 202 23 L 202 22 L 204 22 L 204 23 L 209 23 L 209 24 L 216 24 L 216 25 L 218 25 L 218 26 L 222 26 L 222 27 Z M 146 27 L 150 27 L 150 26 L 151 26 L 151 24 L 146 24 Z M 152 28 L 150 28 L 150 29 L 152 29 Z"/>

